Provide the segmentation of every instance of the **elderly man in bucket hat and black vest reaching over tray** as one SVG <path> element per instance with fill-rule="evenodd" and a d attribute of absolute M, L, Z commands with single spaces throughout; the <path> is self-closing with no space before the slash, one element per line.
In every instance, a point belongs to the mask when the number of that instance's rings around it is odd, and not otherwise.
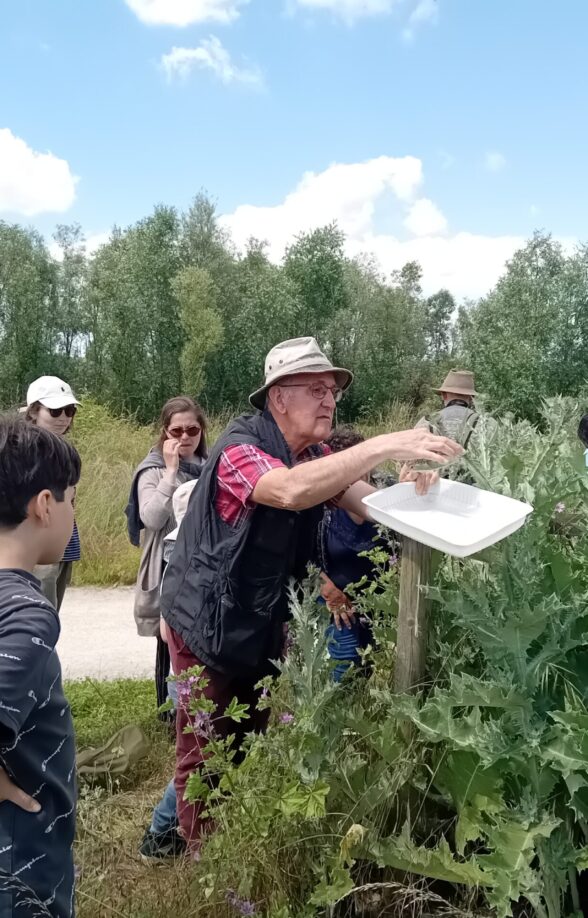
<path fill-rule="evenodd" d="M 287 586 L 314 560 L 325 502 L 336 500 L 366 517 L 362 498 L 373 488 L 361 479 L 374 466 L 386 459 L 443 464 L 461 453 L 451 440 L 415 429 L 330 454 L 322 443 L 352 378 L 330 363 L 314 338 L 284 341 L 270 351 L 264 384 L 250 397 L 258 411 L 233 421 L 212 449 L 166 573 L 162 612 L 174 672 L 204 666 L 204 691 L 217 715 L 233 697 L 249 705 L 243 731 L 265 727 L 255 685 L 282 653 Z M 408 469 L 401 477 L 416 480 L 421 493 L 432 480 Z M 184 733 L 189 723 L 180 707 L 178 816 L 197 850 L 205 828 L 202 808 L 183 798 L 203 756 L 198 734 Z M 237 743 L 242 739 L 232 722 L 221 719 L 215 726 L 236 733 Z"/>

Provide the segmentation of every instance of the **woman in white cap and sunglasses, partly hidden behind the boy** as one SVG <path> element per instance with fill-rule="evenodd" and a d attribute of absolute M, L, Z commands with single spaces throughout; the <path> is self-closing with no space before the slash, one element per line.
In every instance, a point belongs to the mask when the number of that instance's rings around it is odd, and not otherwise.
<path fill-rule="evenodd" d="M 21 411 L 25 412 L 27 421 L 63 437 L 71 430 L 79 404 L 68 383 L 58 376 L 40 376 L 30 384 L 27 404 Z M 43 593 L 58 612 L 71 581 L 72 565 L 79 560 L 80 536 L 74 521 L 71 539 L 59 564 L 42 564 L 35 568 Z"/>

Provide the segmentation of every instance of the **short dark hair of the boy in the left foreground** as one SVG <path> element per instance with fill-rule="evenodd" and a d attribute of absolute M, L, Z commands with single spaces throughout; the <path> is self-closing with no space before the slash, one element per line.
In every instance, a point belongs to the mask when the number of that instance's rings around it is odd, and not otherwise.
<path fill-rule="evenodd" d="M 77 450 L 63 437 L 24 418 L 0 415 L 0 526 L 19 526 L 41 491 L 62 501 L 80 480 L 80 470 Z"/>

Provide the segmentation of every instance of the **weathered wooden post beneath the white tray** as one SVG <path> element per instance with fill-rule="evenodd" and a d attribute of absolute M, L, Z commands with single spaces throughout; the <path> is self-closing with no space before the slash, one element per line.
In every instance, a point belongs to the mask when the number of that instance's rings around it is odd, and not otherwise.
<path fill-rule="evenodd" d="M 429 583 L 431 549 L 413 539 L 402 543 L 400 599 L 394 688 L 415 692 L 425 676 L 427 656 L 427 611 L 429 601 L 421 586 Z"/>

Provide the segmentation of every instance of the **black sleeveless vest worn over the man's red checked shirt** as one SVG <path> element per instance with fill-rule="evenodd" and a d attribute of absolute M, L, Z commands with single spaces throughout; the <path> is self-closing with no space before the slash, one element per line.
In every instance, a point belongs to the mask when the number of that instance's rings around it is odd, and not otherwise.
<path fill-rule="evenodd" d="M 290 578 L 300 580 L 316 561 L 324 508 L 297 512 L 258 505 L 238 526 L 225 523 L 215 509 L 217 466 L 222 451 L 239 443 L 294 464 L 269 412 L 242 415 L 229 425 L 192 493 L 166 570 L 161 609 L 211 669 L 261 678 L 281 653 Z"/>

